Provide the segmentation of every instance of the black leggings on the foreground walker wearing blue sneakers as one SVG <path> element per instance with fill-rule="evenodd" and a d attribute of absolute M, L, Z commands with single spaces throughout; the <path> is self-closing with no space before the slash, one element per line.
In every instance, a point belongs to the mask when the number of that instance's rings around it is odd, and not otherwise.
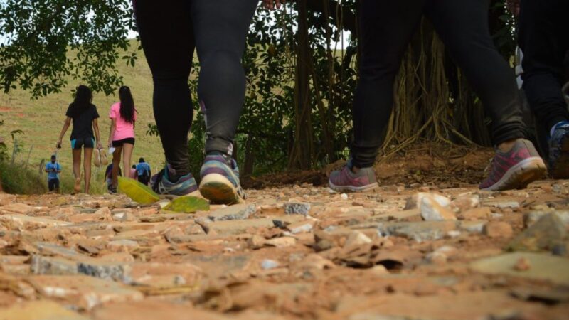
<path fill-rule="evenodd" d="M 142 48 L 154 80 L 154 117 L 166 161 L 189 172 L 193 109 L 188 77 L 193 49 L 200 60 L 198 100 L 206 115 L 206 152 L 231 154 L 243 100 L 241 58 L 258 0 L 134 2 Z"/>

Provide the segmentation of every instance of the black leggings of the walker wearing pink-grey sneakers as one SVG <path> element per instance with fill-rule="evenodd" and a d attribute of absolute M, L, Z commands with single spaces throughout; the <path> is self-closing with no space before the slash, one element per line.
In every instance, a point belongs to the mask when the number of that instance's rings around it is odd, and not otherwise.
<path fill-rule="evenodd" d="M 371 166 L 393 108 L 393 82 L 422 14 L 492 119 L 494 144 L 523 137 L 514 73 L 491 41 L 486 0 L 361 0 L 362 54 L 353 105 L 353 164 Z"/>

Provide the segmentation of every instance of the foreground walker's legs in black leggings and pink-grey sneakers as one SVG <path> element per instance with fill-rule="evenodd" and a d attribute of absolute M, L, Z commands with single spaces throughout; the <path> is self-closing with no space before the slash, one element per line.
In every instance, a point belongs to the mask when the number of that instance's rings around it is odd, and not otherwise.
<path fill-rule="evenodd" d="M 378 186 L 373 164 L 393 107 L 393 84 L 410 38 L 425 16 L 445 43 L 492 119 L 496 146 L 484 190 L 523 188 L 546 171 L 533 144 L 524 139 L 521 101 L 514 73 L 492 43 L 488 1 L 359 1 L 361 62 L 353 102 L 351 160 L 329 179 L 337 191 Z"/>

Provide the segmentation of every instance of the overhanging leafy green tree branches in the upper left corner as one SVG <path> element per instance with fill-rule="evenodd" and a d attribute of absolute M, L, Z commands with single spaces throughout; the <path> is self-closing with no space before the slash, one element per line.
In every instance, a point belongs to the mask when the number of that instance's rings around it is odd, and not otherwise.
<path fill-rule="evenodd" d="M 117 50 L 129 48 L 133 28 L 130 1 L 0 1 L 0 89 L 37 98 L 60 92 L 71 75 L 110 95 L 122 85 Z M 136 55 L 122 59 L 134 65 Z"/>

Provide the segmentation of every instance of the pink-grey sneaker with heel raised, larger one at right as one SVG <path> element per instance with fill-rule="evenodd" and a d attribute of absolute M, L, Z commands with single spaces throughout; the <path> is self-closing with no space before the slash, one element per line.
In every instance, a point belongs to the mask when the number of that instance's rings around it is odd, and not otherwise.
<path fill-rule="evenodd" d="M 510 151 L 496 150 L 490 175 L 479 187 L 485 191 L 523 189 L 546 171 L 546 164 L 533 144 L 526 139 L 517 139 Z"/>

